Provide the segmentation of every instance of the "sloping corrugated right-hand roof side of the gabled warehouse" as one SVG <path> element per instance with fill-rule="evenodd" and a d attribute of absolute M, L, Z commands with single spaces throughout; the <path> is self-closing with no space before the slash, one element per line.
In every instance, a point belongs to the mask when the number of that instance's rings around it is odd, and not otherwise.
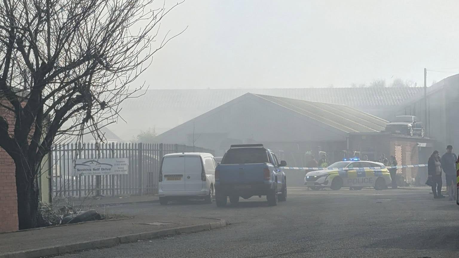
<path fill-rule="evenodd" d="M 254 94 L 346 133 L 381 132 L 388 121 L 345 105 Z"/>

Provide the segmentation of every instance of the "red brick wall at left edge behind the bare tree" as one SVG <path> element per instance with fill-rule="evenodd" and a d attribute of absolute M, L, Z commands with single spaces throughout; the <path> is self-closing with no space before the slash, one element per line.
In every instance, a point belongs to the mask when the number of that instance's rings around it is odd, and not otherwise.
<path fill-rule="evenodd" d="M 2 104 L 6 104 L 2 101 Z M 10 131 L 14 124 L 14 117 L 4 108 L 0 108 L 0 116 L 10 124 Z M 17 221 L 17 193 L 15 165 L 11 157 L 0 147 L 0 232 L 18 229 Z"/>

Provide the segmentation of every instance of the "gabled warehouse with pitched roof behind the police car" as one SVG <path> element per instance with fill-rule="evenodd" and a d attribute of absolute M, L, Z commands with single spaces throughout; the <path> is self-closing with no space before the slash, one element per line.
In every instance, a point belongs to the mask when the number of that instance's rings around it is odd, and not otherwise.
<path fill-rule="evenodd" d="M 307 151 L 325 151 L 330 162 L 353 151 L 370 160 L 393 155 L 403 164 L 418 164 L 429 155 L 431 139 L 381 133 L 387 123 L 346 105 L 247 93 L 158 135 L 157 141 L 210 148 L 215 156 L 231 144 L 263 143 L 294 167 L 305 166 Z M 409 181 L 418 174 L 417 168 L 401 172 Z"/>

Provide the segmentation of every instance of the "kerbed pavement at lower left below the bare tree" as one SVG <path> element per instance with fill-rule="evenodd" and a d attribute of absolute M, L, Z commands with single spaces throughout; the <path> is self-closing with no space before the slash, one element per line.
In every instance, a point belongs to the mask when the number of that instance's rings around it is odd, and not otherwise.
<path fill-rule="evenodd" d="M 181 236 L 182 234 L 226 226 L 224 220 L 217 218 L 157 214 L 154 210 L 159 208 L 159 204 L 141 203 L 150 207 L 151 212 L 140 214 L 131 210 L 127 215 L 130 217 L 126 219 L 92 221 L 1 233 L 0 258 L 45 257 L 90 248 L 116 246 L 126 242 L 146 241 L 162 236 L 177 234 Z M 110 207 L 97 209 L 101 213 L 107 213 Z M 146 224 L 154 222 L 156 223 Z"/>

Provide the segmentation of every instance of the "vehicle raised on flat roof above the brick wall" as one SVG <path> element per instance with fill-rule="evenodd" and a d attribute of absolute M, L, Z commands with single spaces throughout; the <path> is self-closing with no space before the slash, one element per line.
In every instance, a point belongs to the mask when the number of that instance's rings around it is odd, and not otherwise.
<path fill-rule="evenodd" d="M 386 132 L 393 135 L 424 137 L 424 125 L 415 116 L 397 116 L 386 125 Z"/>

